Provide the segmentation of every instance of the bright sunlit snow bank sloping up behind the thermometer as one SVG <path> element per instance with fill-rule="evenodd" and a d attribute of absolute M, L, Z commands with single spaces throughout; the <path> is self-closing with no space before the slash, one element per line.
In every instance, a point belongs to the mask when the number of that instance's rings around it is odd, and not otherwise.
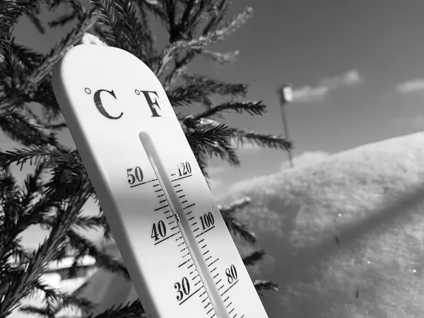
<path fill-rule="evenodd" d="M 424 133 L 247 180 L 217 202 L 245 195 L 240 218 L 268 255 L 249 271 L 281 286 L 262 298 L 270 318 L 423 317 Z M 97 312 L 137 297 L 100 270 L 81 295 Z"/>

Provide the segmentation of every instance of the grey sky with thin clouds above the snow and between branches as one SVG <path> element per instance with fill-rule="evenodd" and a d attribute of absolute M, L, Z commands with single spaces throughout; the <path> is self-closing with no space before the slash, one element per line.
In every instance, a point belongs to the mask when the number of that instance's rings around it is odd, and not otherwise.
<path fill-rule="evenodd" d="M 247 6 L 254 9 L 253 17 L 212 47 L 220 52 L 239 50 L 237 61 L 216 66 L 196 59 L 189 69 L 247 83 L 247 100 L 263 100 L 268 106 L 262 117 L 230 114 L 226 124 L 283 134 L 276 90 L 290 83 L 294 100 L 286 112 L 295 165 L 298 159 L 424 129 L 423 1 L 235 0 L 230 16 Z M 43 13 L 42 18 L 50 20 L 52 15 Z M 163 30 L 154 25 L 163 43 Z M 18 42 L 39 52 L 48 52 L 65 33 L 49 30 L 40 35 L 25 18 L 15 30 Z M 192 110 L 196 107 L 187 111 Z M 73 144 L 68 132 L 60 137 Z M 16 146 L 4 134 L 0 145 L 2 150 Z M 240 159 L 239 168 L 211 161 L 213 194 L 220 196 L 236 182 L 288 167 L 284 151 L 247 146 L 240 149 Z M 93 205 L 86 210 L 95 213 Z M 35 237 L 40 233 L 31 231 L 24 244 Z"/>

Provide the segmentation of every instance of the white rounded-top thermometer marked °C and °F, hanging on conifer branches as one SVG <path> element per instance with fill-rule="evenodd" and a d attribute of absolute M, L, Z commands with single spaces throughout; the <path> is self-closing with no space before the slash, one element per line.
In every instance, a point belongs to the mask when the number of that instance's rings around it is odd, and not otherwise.
<path fill-rule="evenodd" d="M 266 318 L 165 90 L 129 52 L 78 45 L 53 87 L 154 318 Z"/>

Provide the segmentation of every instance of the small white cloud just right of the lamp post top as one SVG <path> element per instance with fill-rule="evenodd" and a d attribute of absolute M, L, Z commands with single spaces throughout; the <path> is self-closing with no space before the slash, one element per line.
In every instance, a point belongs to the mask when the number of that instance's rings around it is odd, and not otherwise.
<path fill-rule="evenodd" d="M 322 100 L 331 90 L 335 90 L 341 86 L 354 86 L 363 81 L 360 74 L 356 70 L 351 70 L 338 76 L 331 78 L 322 78 L 317 86 L 302 86 L 293 89 L 294 102 L 314 102 Z"/>

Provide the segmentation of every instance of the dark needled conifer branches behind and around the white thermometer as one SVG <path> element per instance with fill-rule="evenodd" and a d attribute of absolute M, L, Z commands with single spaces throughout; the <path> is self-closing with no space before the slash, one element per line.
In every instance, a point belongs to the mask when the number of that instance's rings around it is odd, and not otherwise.
<path fill-rule="evenodd" d="M 262 115 L 266 105 L 243 100 L 247 85 L 227 83 L 217 78 L 189 72 L 194 58 L 203 57 L 216 64 L 235 61 L 238 52 L 213 52 L 210 47 L 233 33 L 252 16 L 252 9 L 227 18 L 230 0 L 92 0 L 84 6 L 78 0 L 31 0 L 0 2 L 0 127 L 22 145 L 19 149 L 0 151 L 0 318 L 7 317 L 20 300 L 37 293 L 46 300 L 45 307 L 20 307 L 20 310 L 54 317 L 62 307 L 77 307 L 90 312 L 88 300 L 60 293 L 40 280 L 47 264 L 74 251 L 74 264 L 85 255 L 96 259 L 100 268 L 129 278 L 124 264 L 102 251 L 94 242 L 81 236 L 77 228 L 102 228 L 107 240 L 112 234 L 99 204 L 98 216 L 81 213 L 86 201 L 97 201 L 95 192 L 81 163 L 78 151 L 64 146 L 57 134 L 66 129 L 60 122 L 61 112 L 51 86 L 54 64 L 63 52 L 77 45 L 85 33 L 100 37 L 107 45 L 124 49 L 147 64 L 160 78 L 167 96 L 187 136 L 192 151 L 209 180 L 208 162 L 216 156 L 239 166 L 235 144 L 252 143 L 259 147 L 286 150 L 289 141 L 280 136 L 260 134 L 248 129 L 227 126 L 225 112 Z M 40 32 L 45 26 L 37 17 L 46 6 L 54 10 L 66 6 L 64 16 L 49 22 L 50 28 L 68 23 L 76 26 L 47 54 L 35 52 L 14 40 L 13 26 L 23 15 L 33 21 Z M 158 49 L 151 18 L 160 20 L 169 35 L 168 43 Z M 214 102 L 218 97 L 225 102 Z M 42 105 L 36 114 L 30 103 Z M 198 105 L 196 114 L 180 110 Z M 35 171 L 23 185 L 17 184 L 11 166 L 30 164 Z M 49 174 L 46 179 L 45 174 Z M 246 206 L 242 199 L 230 206 L 220 206 L 230 232 L 254 244 L 256 238 L 247 225 L 240 223 L 235 212 Z M 22 232 L 30 225 L 40 225 L 49 235 L 40 247 L 30 252 L 21 244 Z M 255 264 L 264 251 L 245 255 L 246 265 Z M 255 281 L 261 290 L 276 289 L 269 281 Z M 139 301 L 112 308 L 98 317 L 140 317 Z"/>

